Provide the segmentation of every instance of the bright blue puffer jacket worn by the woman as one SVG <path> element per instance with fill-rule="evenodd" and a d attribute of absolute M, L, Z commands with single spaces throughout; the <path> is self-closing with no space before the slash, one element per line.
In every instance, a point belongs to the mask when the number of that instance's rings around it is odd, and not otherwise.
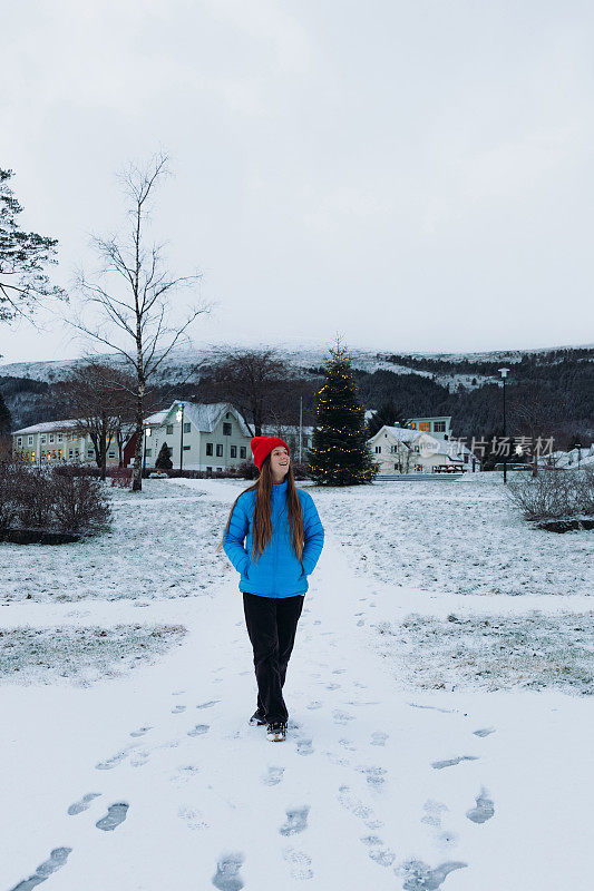
<path fill-rule="evenodd" d="M 303 489 L 298 489 L 304 536 L 303 556 L 302 562 L 300 562 L 291 541 L 286 486 L 286 480 L 284 480 L 272 487 L 272 538 L 255 561 L 252 560 L 255 491 L 242 492 L 237 499 L 223 548 L 237 572 L 241 574 L 241 591 L 259 594 L 262 597 L 293 597 L 295 594 L 305 594 L 308 590 L 308 576 L 313 572 L 322 552 L 324 530 L 313 498 Z"/>

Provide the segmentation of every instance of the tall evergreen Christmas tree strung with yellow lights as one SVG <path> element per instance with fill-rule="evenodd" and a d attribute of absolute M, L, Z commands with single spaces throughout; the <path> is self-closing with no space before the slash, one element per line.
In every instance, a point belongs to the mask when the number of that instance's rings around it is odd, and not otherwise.
<path fill-rule="evenodd" d="M 364 409 L 358 402 L 351 360 L 340 337 L 329 350 L 324 374 L 309 453 L 311 477 L 322 486 L 369 483 L 378 466 L 367 447 Z"/>

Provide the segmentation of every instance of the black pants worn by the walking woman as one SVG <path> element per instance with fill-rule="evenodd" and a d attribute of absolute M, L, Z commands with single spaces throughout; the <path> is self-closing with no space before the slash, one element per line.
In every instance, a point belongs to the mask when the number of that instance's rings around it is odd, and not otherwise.
<path fill-rule="evenodd" d="M 269 722 L 286 723 L 289 717 L 282 689 L 304 599 L 301 594 L 261 597 L 243 593 L 245 624 L 254 650 L 257 707 Z"/>

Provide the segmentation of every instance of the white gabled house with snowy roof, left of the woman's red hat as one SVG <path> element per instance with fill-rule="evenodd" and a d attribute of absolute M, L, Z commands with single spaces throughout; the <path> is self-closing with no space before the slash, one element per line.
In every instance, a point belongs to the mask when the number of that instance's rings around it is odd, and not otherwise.
<path fill-rule="evenodd" d="M 230 402 L 177 400 L 145 420 L 143 461 L 154 467 L 166 442 L 174 468 L 221 471 L 252 459 L 252 433 Z"/>

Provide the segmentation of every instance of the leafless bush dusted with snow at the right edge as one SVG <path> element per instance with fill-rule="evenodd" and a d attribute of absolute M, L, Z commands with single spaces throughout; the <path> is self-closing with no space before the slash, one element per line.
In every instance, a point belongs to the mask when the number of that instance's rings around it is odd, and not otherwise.
<path fill-rule="evenodd" d="M 507 496 L 527 520 L 559 520 L 594 515 L 594 468 L 542 469 L 535 478 L 510 480 Z"/>

